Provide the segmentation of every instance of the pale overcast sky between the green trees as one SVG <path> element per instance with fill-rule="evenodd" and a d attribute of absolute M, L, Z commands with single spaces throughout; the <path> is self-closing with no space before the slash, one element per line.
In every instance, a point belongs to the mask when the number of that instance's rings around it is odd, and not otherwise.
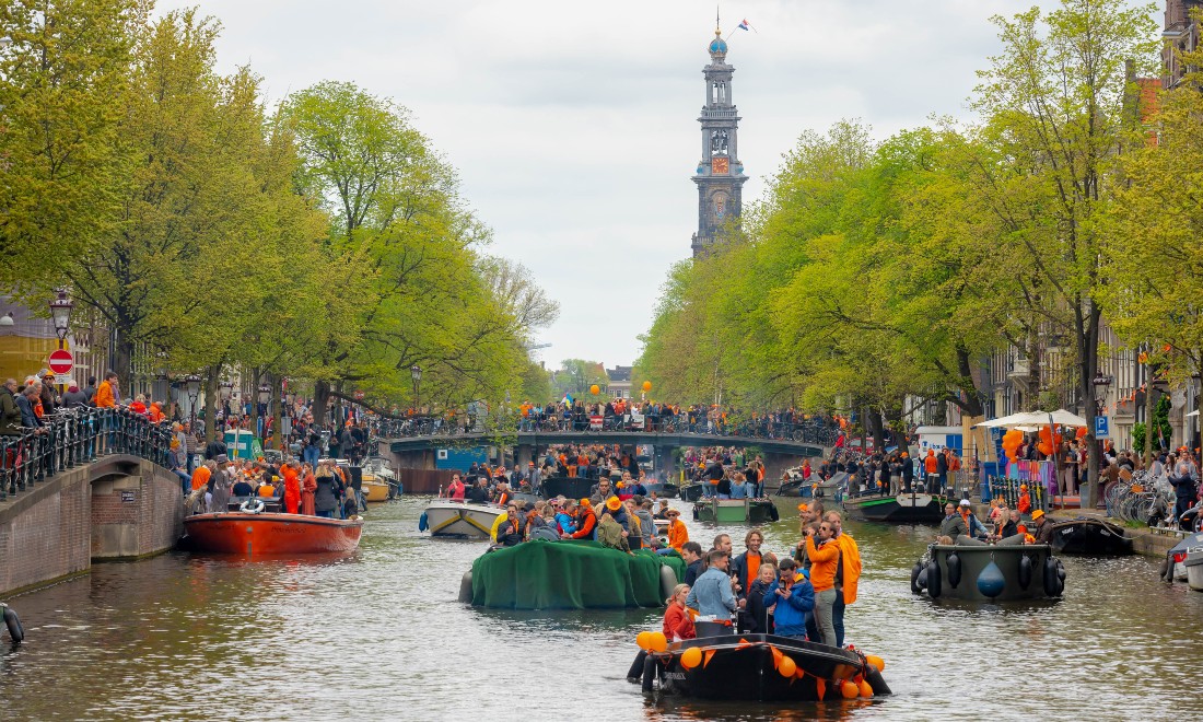
<path fill-rule="evenodd" d="M 806 129 L 860 118 L 885 137 L 932 114 L 966 117 L 974 71 L 998 48 L 990 16 L 1032 4 L 723 2 L 745 202 Z M 665 271 L 695 230 L 713 2 L 159 1 L 190 5 L 221 20 L 223 69 L 250 64 L 272 100 L 339 79 L 413 111 L 494 230 L 491 253 L 525 264 L 559 301 L 541 338 L 549 367 L 639 355 Z M 742 18 L 758 32 L 733 31 Z"/>

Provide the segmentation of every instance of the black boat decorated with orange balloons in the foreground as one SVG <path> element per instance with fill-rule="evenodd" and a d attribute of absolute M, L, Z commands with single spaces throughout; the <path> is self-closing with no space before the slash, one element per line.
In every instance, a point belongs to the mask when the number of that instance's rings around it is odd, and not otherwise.
<path fill-rule="evenodd" d="M 627 673 L 644 692 L 700 699 L 822 702 L 891 694 L 877 657 L 857 650 L 776 634 L 725 634 L 665 644 L 650 635 L 650 649 Z M 641 646 L 644 644 L 641 643 Z M 657 647 L 660 647 L 658 651 Z"/>

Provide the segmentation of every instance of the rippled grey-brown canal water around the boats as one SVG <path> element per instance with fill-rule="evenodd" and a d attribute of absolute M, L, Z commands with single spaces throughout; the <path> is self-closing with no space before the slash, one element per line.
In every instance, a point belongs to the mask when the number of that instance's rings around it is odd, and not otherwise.
<path fill-rule="evenodd" d="M 485 544 L 420 533 L 423 502 L 373 505 L 351 556 L 173 552 L 8 599 L 26 643 L 0 656 L 0 717 L 1203 718 L 1203 593 L 1165 586 L 1151 560 L 1067 558 L 1063 600 L 973 608 L 911 594 L 932 529 L 849 523 L 865 572 L 848 641 L 885 659 L 893 697 L 784 709 L 650 699 L 624 675 L 659 610 L 460 604 Z M 687 523 L 704 546 L 719 531 Z M 746 528 L 721 531 L 742 550 Z M 796 521 L 766 535 L 781 552 Z"/>

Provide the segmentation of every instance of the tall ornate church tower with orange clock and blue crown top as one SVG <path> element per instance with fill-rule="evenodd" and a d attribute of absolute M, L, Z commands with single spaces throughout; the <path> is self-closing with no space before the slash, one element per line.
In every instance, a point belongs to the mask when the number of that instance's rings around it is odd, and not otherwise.
<path fill-rule="evenodd" d="M 727 41 L 715 29 L 710 42 L 710 65 L 701 69 L 706 78 L 706 105 L 701 107 L 701 160 L 693 182 L 698 184 L 698 232 L 693 235 L 693 256 L 704 256 L 719 239 L 722 226 L 739 218 L 742 188 L 747 180 L 739 155 L 739 111 L 731 102 L 731 75 L 727 64 Z"/>

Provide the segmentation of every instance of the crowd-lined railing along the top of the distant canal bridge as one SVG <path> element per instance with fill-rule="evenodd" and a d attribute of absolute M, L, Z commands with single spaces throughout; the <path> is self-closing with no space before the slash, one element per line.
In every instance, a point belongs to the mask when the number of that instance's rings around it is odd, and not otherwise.
<path fill-rule="evenodd" d="M 468 419 L 467 422 L 451 421 L 434 416 L 413 419 L 383 419 L 373 428 L 380 438 L 426 438 L 461 437 L 479 434 L 484 430 Z M 742 421 L 722 424 L 710 420 L 689 422 L 686 416 L 644 416 L 642 422 L 632 422 L 629 416 L 605 416 L 597 427 L 588 416 L 540 416 L 520 419 L 512 431 L 526 433 L 571 433 L 571 432 L 630 432 L 635 433 L 681 433 L 698 436 L 743 437 L 765 440 L 798 442 L 830 446 L 838 437 L 838 430 L 813 424 L 786 424 L 777 421 Z"/>

